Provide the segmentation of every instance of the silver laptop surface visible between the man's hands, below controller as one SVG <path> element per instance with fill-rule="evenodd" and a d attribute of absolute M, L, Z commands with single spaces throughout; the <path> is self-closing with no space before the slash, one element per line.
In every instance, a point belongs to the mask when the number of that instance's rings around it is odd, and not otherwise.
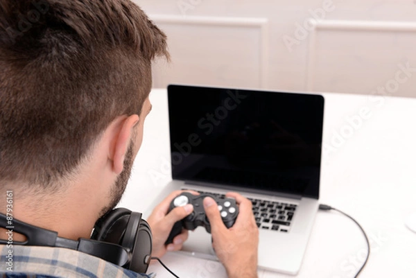
<path fill-rule="evenodd" d="M 184 243 L 181 251 L 194 257 L 218 261 L 212 247 L 212 236 L 205 227 L 197 227 L 195 230 L 189 231 L 188 240 Z"/>

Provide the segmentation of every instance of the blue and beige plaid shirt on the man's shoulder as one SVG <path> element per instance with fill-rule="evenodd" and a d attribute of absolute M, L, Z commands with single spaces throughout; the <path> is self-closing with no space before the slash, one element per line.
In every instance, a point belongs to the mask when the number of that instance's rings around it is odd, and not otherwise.
<path fill-rule="evenodd" d="M 10 252 L 12 250 L 12 252 Z M 137 274 L 89 254 L 58 247 L 0 245 L 0 273 L 3 277 L 111 277 L 152 278 Z"/>

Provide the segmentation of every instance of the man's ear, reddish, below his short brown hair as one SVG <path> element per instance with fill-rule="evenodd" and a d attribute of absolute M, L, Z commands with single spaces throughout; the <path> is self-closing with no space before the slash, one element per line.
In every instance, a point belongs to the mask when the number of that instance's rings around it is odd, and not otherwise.
<path fill-rule="evenodd" d="M 132 141 L 135 132 L 134 128 L 137 122 L 139 122 L 139 116 L 136 114 L 121 119 L 119 128 L 116 129 L 116 133 L 114 134 L 110 160 L 112 160 L 113 171 L 117 175 L 123 171 L 125 154 Z"/>

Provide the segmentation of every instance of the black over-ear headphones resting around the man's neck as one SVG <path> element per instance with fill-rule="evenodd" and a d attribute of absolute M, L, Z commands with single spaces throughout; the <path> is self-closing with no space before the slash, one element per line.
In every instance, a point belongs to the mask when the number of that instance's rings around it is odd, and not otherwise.
<path fill-rule="evenodd" d="M 0 214 L 0 227 L 10 229 L 4 214 Z M 14 242 L 16 245 L 36 245 L 64 247 L 104 259 L 137 273 L 146 273 L 152 254 L 153 237 L 141 213 L 117 208 L 100 218 L 91 238 L 73 241 L 61 238 L 57 232 L 42 229 L 19 220 L 12 220 L 14 232 L 24 234 L 26 241 Z M 0 244 L 7 241 L 0 240 Z"/>

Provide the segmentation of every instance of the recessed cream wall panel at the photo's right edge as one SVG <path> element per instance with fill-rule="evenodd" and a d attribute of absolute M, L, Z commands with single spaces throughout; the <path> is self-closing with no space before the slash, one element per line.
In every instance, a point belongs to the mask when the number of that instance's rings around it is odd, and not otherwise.
<path fill-rule="evenodd" d="M 309 91 L 415 96 L 416 23 L 315 22 Z"/>

